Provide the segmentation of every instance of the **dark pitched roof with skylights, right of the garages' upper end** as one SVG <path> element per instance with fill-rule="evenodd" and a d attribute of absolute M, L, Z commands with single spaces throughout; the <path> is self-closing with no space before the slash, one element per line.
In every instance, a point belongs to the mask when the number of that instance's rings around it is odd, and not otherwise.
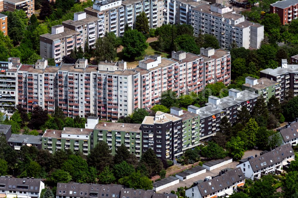
<path fill-rule="evenodd" d="M 281 162 L 284 158 L 287 158 L 291 155 L 294 155 L 294 151 L 291 147 L 291 144 L 288 143 L 277 147 L 268 153 L 250 159 L 249 163 L 253 171 L 258 171 L 267 166 L 271 166 L 272 164 Z"/>

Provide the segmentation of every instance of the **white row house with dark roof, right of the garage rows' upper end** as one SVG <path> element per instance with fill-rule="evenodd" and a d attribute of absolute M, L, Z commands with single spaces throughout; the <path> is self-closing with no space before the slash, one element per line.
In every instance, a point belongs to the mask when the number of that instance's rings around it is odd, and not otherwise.
<path fill-rule="evenodd" d="M 291 144 L 284 144 L 280 147 L 268 151 L 263 151 L 255 157 L 250 156 L 242 159 L 237 164 L 241 168 L 246 178 L 254 180 L 268 173 L 281 171 L 284 165 L 295 159 Z"/>

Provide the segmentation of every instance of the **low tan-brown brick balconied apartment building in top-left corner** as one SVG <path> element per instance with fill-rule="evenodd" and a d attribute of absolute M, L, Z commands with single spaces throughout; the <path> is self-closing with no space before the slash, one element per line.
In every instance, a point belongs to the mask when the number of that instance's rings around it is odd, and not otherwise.
<path fill-rule="evenodd" d="M 3 7 L 3 10 L 1 8 Z M 34 0 L 3 0 L 0 1 L 0 12 L 24 10 L 28 18 L 34 14 Z"/>

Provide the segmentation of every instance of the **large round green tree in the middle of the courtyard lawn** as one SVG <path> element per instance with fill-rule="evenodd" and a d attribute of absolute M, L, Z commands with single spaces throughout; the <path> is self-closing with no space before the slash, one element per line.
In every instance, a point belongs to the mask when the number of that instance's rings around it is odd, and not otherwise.
<path fill-rule="evenodd" d="M 122 45 L 122 52 L 128 58 L 142 56 L 148 48 L 145 36 L 136 29 L 124 32 Z"/>

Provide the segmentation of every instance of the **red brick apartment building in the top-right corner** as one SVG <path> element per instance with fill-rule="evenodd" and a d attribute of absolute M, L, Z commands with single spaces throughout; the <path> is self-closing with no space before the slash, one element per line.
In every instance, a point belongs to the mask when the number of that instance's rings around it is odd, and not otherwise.
<path fill-rule="evenodd" d="M 291 23 L 293 19 L 297 19 L 297 11 L 298 2 L 295 0 L 276 1 L 270 5 L 270 12 L 279 15 L 282 25 Z"/>

